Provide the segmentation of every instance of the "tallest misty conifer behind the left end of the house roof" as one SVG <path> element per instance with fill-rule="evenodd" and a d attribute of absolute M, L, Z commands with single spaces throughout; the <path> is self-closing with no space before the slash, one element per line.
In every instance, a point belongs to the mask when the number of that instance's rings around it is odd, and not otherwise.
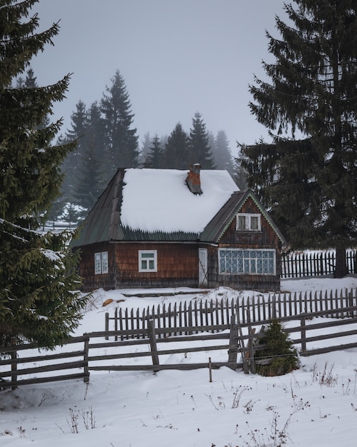
<path fill-rule="evenodd" d="M 112 85 L 105 89 L 100 109 L 105 119 L 108 179 L 121 168 L 138 166 L 138 136 L 132 129 L 133 117 L 123 76 L 117 70 Z"/>

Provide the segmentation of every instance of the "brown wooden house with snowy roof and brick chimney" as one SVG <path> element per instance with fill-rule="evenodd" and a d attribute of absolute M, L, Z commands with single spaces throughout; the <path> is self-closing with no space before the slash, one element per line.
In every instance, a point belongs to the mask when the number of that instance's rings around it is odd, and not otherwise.
<path fill-rule="evenodd" d="M 281 235 L 227 171 L 118 169 L 72 246 L 83 289 L 280 288 Z"/>

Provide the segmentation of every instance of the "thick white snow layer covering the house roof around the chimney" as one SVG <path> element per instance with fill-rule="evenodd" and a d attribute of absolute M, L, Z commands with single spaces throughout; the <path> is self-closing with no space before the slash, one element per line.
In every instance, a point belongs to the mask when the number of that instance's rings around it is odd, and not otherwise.
<path fill-rule="evenodd" d="M 201 170 L 202 194 L 192 194 L 187 170 L 126 169 L 120 221 L 133 231 L 200 233 L 239 191 L 227 171 Z"/>

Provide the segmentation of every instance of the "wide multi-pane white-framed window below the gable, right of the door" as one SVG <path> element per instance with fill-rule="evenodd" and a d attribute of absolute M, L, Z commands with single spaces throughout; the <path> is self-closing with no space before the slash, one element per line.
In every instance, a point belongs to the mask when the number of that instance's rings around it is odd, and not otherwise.
<path fill-rule="evenodd" d="M 275 275 L 275 250 L 219 249 L 219 273 Z"/>

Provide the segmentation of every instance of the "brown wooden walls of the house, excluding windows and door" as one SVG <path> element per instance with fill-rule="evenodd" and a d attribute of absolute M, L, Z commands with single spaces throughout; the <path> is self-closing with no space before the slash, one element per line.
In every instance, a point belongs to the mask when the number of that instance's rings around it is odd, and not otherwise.
<path fill-rule="evenodd" d="M 80 274 L 83 291 L 96 288 L 135 287 L 198 287 L 198 248 L 207 248 L 207 286 L 227 286 L 236 289 L 279 291 L 281 276 L 281 242 L 276 231 L 248 198 L 239 210 L 261 214 L 260 231 L 237 231 L 236 219 L 229 224 L 217 245 L 199 243 L 95 243 L 82 248 Z M 276 274 L 219 274 L 219 248 L 271 248 L 276 250 Z M 139 250 L 157 251 L 157 272 L 139 272 Z M 94 253 L 108 251 L 108 274 L 94 274 Z"/>

